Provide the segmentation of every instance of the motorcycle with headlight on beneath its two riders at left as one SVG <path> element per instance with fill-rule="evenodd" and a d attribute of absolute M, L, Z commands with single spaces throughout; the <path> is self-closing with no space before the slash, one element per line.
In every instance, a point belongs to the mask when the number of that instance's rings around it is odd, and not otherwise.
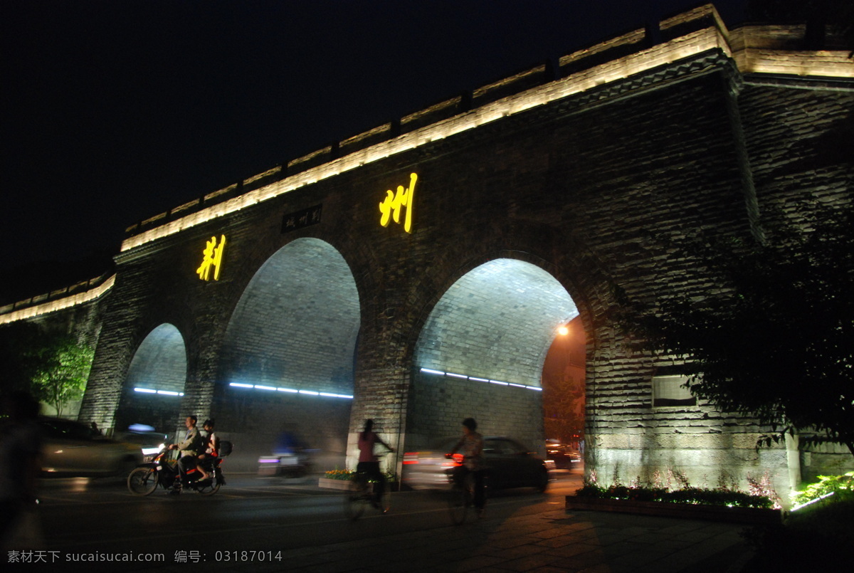
<path fill-rule="evenodd" d="M 225 446 L 227 444 L 227 446 Z M 225 447 L 224 447 L 225 446 Z M 202 472 L 196 468 L 187 471 L 186 482 L 183 489 L 192 489 L 202 495 L 213 495 L 225 485 L 225 477 L 222 474 L 223 457 L 231 453 L 231 442 L 223 441 L 219 447 L 218 457 L 208 457 L 199 460 L 199 464 L 205 465 L 210 477 L 200 479 Z M 153 494 L 158 485 L 167 491 L 178 492 L 182 489 L 179 484 L 178 459 L 169 459 L 167 455 L 171 450 L 168 447 L 150 462 L 138 465 L 127 477 L 127 488 L 134 495 Z"/>

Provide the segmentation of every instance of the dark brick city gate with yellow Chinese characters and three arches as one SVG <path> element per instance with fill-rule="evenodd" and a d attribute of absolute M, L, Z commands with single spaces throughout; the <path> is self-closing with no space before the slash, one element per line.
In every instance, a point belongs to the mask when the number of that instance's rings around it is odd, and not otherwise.
<path fill-rule="evenodd" d="M 588 468 L 769 470 L 785 490 L 797 455 L 757 452 L 760 428 L 687 395 L 607 311 L 615 285 L 714 288 L 668 238 L 850 199 L 852 63 L 786 51 L 801 32 L 728 31 L 706 6 L 658 44 L 597 44 L 133 226 L 80 418 L 211 415 L 259 451 L 294 424 L 352 453 L 366 418 L 403 452 L 472 415 L 536 447 L 542 361 L 580 315 Z"/>

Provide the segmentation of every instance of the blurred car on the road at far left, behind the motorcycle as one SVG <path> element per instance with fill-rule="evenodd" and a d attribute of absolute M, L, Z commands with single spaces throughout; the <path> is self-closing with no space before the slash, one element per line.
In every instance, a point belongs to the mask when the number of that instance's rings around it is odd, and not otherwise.
<path fill-rule="evenodd" d="M 120 476 L 143 463 L 138 444 L 111 440 L 87 424 L 62 418 L 38 418 L 38 423 L 43 476 Z"/>

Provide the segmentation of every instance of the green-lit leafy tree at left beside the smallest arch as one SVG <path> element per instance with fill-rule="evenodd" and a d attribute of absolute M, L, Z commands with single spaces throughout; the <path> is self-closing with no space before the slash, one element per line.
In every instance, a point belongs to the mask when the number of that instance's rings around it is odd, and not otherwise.
<path fill-rule="evenodd" d="M 56 408 L 60 416 L 68 401 L 83 396 L 94 351 L 71 336 L 51 337 L 38 348 L 38 365 L 32 377 L 34 394 Z"/>

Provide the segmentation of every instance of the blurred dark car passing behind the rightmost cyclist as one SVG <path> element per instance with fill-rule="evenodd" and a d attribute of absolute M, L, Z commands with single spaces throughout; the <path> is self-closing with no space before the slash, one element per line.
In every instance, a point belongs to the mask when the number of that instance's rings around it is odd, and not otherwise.
<path fill-rule="evenodd" d="M 445 454 L 459 438 L 442 441 L 438 447 L 423 452 L 403 454 L 403 482 L 415 489 L 444 489 L 449 487 L 446 471 L 456 462 Z M 537 453 L 512 438 L 486 436 L 483 438 L 483 458 L 486 462 L 488 488 L 548 487 L 547 464 Z"/>

